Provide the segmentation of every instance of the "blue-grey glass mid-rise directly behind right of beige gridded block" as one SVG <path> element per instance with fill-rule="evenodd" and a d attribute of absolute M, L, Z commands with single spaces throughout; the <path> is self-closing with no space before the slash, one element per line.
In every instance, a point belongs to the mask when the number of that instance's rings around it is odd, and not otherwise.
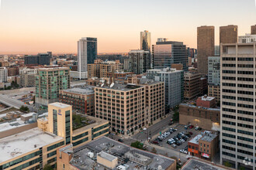
<path fill-rule="evenodd" d="M 175 107 L 184 99 L 184 72 L 175 69 L 147 70 L 147 78 L 164 82 L 165 105 Z"/>

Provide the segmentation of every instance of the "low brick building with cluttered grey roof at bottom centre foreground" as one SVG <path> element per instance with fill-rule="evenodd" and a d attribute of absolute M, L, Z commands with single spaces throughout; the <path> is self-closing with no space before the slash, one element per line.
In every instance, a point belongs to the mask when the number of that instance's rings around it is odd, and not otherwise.
<path fill-rule="evenodd" d="M 175 159 L 132 148 L 102 137 L 73 148 L 68 145 L 57 151 L 57 169 L 162 169 L 175 170 Z"/>

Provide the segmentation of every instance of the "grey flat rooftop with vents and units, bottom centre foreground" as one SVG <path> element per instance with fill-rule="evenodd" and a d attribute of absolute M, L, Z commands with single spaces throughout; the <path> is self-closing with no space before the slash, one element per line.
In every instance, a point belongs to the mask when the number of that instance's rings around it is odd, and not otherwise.
<path fill-rule="evenodd" d="M 175 163 L 174 159 L 132 148 L 103 136 L 86 145 L 75 148 L 74 158 L 71 159 L 71 165 L 74 165 L 79 169 L 90 169 L 93 165 L 97 165 L 95 156 L 98 153 L 102 153 L 102 151 L 107 152 L 108 155 L 112 155 L 112 158 L 118 158 L 117 167 L 123 165 L 129 167 L 128 169 L 157 169 L 160 166 L 162 169 L 166 169 Z M 92 152 L 94 157 L 89 158 L 87 156 L 88 152 Z M 97 167 L 99 167 L 99 169 L 104 169 L 102 165 L 97 165 Z M 116 170 L 117 168 L 114 169 Z"/>

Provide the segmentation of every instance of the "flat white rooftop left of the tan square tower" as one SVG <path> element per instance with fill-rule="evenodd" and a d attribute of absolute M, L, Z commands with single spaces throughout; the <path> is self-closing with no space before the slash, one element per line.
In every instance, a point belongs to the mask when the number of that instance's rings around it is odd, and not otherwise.
<path fill-rule="evenodd" d="M 29 129 L 1 138 L 0 163 L 61 140 L 63 138 L 55 134 L 45 133 L 40 128 Z"/>

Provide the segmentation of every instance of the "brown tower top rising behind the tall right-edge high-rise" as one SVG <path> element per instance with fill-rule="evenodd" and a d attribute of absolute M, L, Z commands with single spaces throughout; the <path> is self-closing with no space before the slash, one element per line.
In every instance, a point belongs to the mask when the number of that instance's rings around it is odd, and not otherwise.
<path fill-rule="evenodd" d="M 220 43 L 237 43 L 237 26 L 220 26 Z"/>

